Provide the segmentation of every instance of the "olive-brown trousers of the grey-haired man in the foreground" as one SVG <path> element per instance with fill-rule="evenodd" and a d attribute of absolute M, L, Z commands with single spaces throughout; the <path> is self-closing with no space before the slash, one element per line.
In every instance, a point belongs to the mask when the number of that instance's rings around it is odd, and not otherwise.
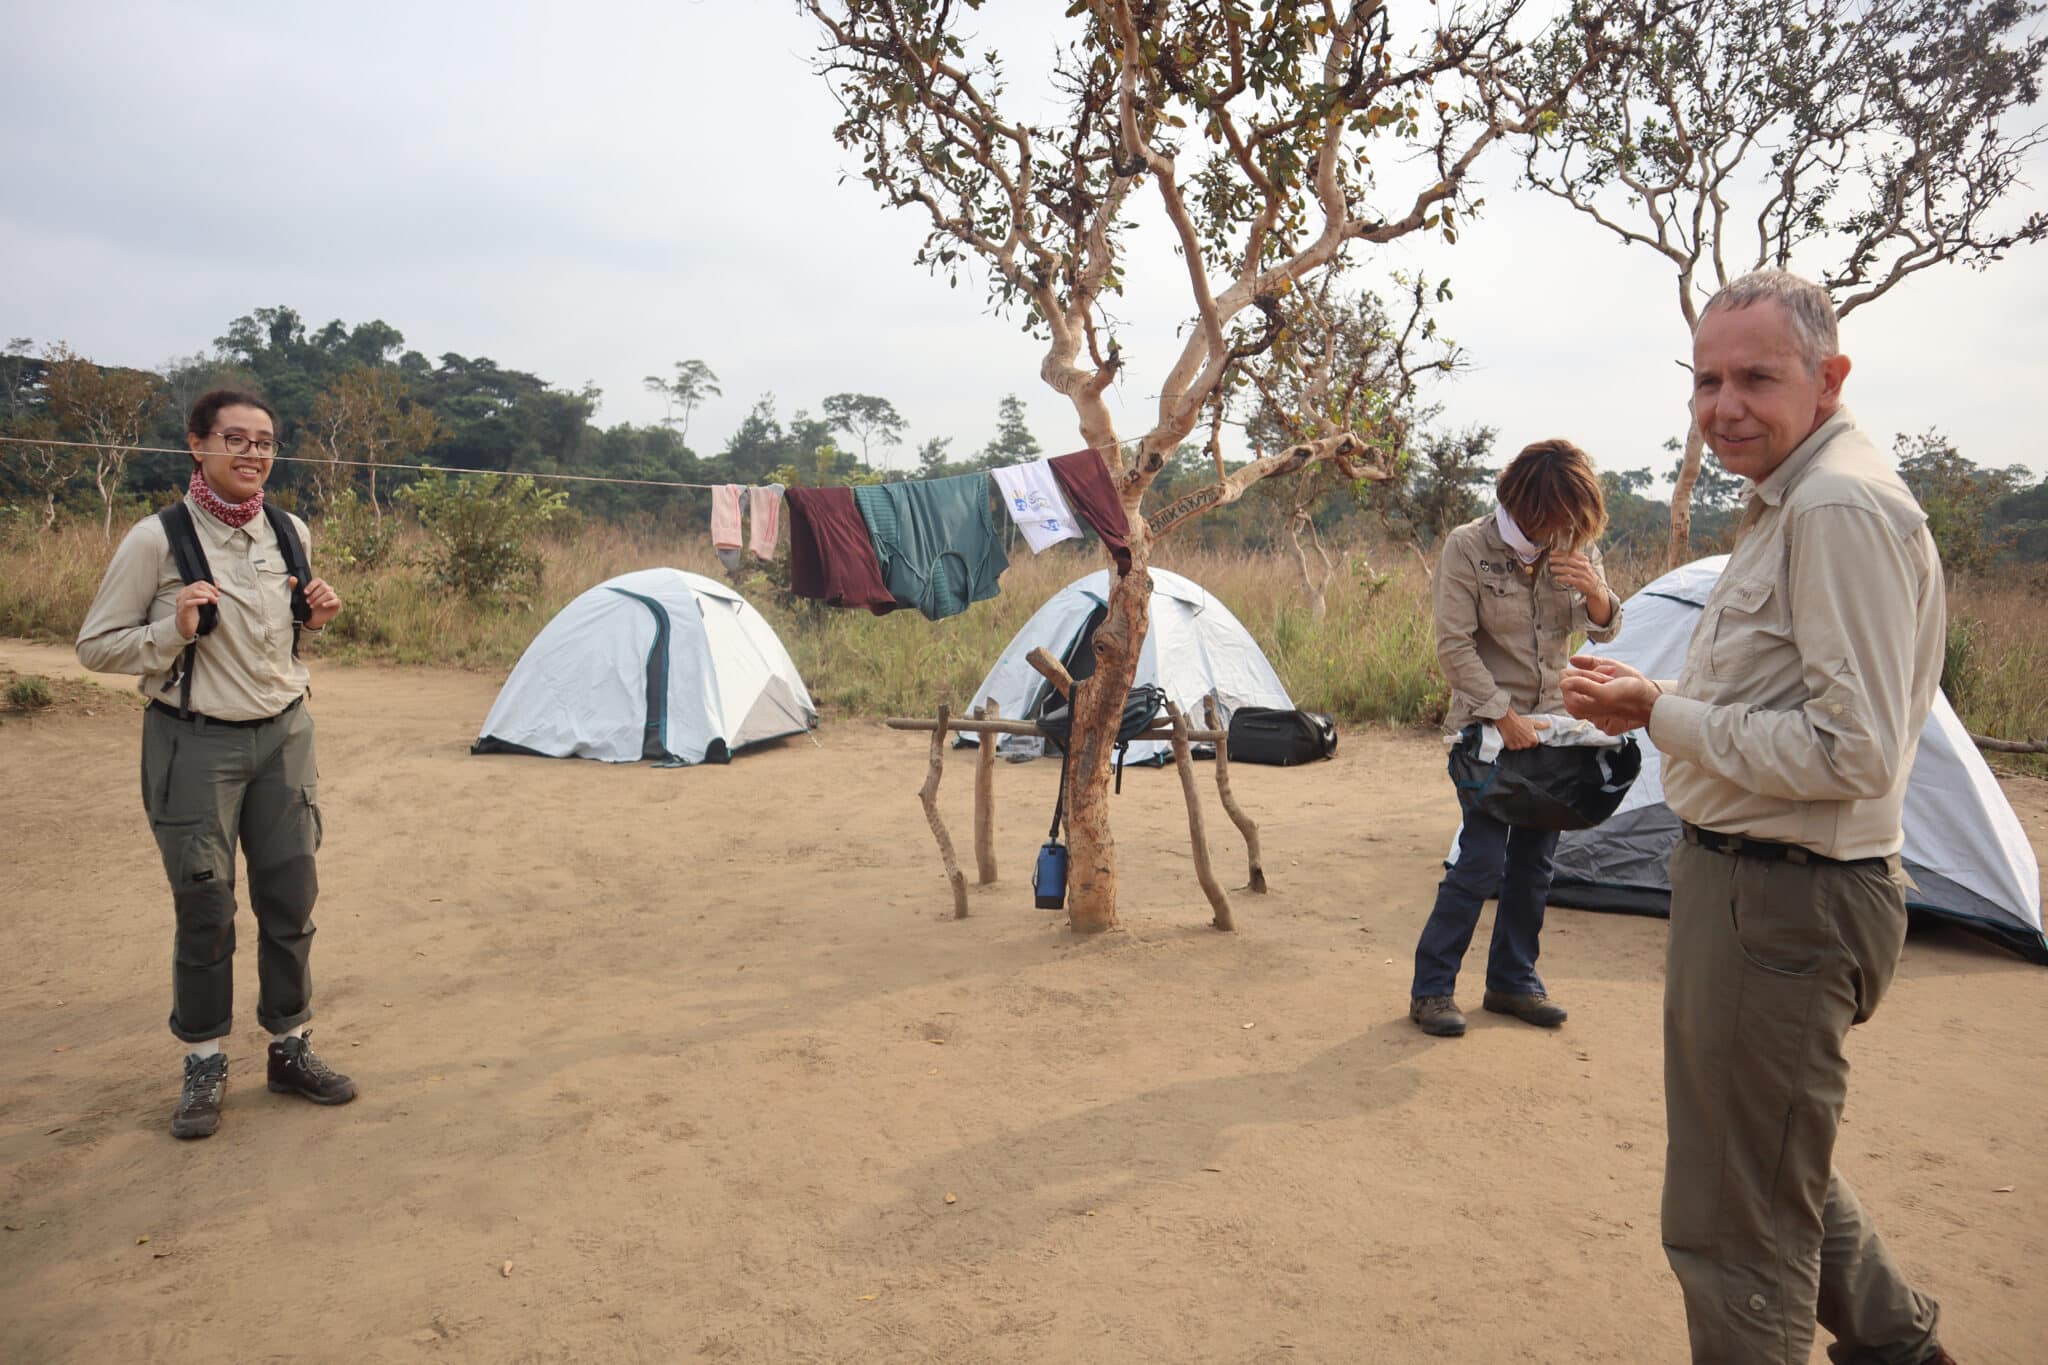
<path fill-rule="evenodd" d="M 1665 1257 L 1694 1361 L 1919 1365 L 1937 1306 L 1833 1169 L 1843 1042 L 1898 966 L 1898 862 L 1763 862 L 1679 843 L 1665 970 Z"/>

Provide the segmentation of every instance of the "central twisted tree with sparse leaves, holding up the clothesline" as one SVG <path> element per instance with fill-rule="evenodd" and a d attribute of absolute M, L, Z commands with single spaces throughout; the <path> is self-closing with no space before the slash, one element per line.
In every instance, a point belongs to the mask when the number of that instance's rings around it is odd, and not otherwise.
<path fill-rule="evenodd" d="M 1130 522 L 1130 571 L 1110 591 L 1096 675 L 1075 698 L 1067 788 L 1069 923 L 1114 927 L 1110 751 L 1149 624 L 1153 542 L 1321 460 L 1384 477 L 1389 452 L 1329 411 L 1237 469 L 1219 452 L 1217 481 L 1165 505 L 1141 510 L 1145 491 L 1210 403 L 1247 383 L 1249 362 L 1298 364 L 1278 348 L 1288 295 L 1348 248 L 1454 235 L 1473 162 L 1559 100 L 1499 80 L 1520 0 L 1446 6 L 1407 51 L 1380 0 L 1260 12 L 1233 0 L 1077 0 L 1051 20 L 1063 23 L 1051 86 L 1065 113 L 1049 125 L 1016 113 L 997 53 L 969 51 L 971 0 L 801 4 L 823 33 L 840 145 L 889 205 L 926 219 L 920 262 L 950 278 L 979 266 L 997 311 L 1028 313 L 1047 342 L 1038 375 L 1073 403 Z M 1397 158 L 1409 158 L 1415 184 L 1374 180 L 1376 164 Z M 1159 395 L 1151 426 L 1122 440 L 1104 395 L 1124 350 L 1104 305 L 1124 287 L 1141 192 L 1157 194 L 1169 225 L 1188 325 L 1145 383 Z"/>

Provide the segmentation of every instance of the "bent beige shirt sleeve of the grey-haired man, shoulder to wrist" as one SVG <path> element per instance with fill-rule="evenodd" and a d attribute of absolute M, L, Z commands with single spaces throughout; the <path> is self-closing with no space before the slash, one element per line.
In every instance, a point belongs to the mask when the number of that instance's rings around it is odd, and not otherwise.
<path fill-rule="evenodd" d="M 1763 796 L 1884 796 L 1917 731 L 1917 546 L 1864 508 L 1810 508 L 1786 581 L 1806 702 L 1763 710 L 1667 694 L 1651 710 L 1651 741 Z"/>

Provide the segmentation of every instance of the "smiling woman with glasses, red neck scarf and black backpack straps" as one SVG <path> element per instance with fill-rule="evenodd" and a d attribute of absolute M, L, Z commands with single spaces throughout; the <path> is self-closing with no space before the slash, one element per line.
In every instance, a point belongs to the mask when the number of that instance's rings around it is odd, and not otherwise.
<path fill-rule="evenodd" d="M 193 452 L 184 501 L 121 540 L 78 630 L 78 659 L 139 673 L 150 698 L 143 810 L 176 911 L 170 1031 L 186 1046 L 170 1132 L 205 1138 L 221 1121 L 227 1089 L 219 1040 L 233 1013 L 236 845 L 256 915 L 256 1019 L 272 1040 L 270 1089 L 322 1105 L 356 1095 L 305 1033 L 319 784 L 297 643 L 301 630 L 326 630 L 342 600 L 309 571 L 299 583 L 293 563 L 305 563 L 305 522 L 264 508 L 276 456 L 270 405 L 215 389 L 193 405 L 184 440 Z"/>

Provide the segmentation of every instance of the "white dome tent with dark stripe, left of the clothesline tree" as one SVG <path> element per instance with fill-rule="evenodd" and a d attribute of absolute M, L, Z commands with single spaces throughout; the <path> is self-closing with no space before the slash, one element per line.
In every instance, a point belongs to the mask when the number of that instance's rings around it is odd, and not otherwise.
<path fill-rule="evenodd" d="M 745 598 L 682 569 L 641 569 L 547 622 L 469 751 L 725 763 L 813 724 L 797 665 Z"/>

